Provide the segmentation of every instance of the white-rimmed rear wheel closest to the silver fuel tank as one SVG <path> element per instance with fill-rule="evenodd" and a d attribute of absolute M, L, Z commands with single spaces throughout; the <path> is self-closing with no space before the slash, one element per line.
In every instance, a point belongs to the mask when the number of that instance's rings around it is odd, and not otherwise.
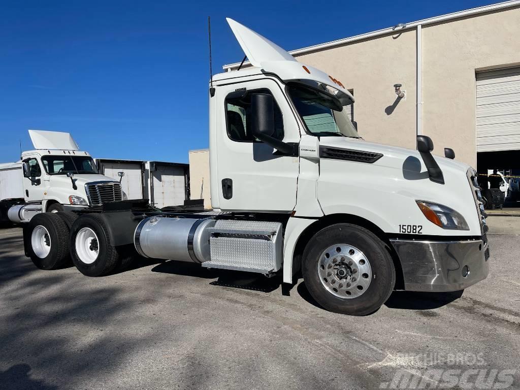
<path fill-rule="evenodd" d="M 70 254 L 83 275 L 107 275 L 119 264 L 118 248 L 111 245 L 108 232 L 105 222 L 96 214 L 83 215 L 72 225 Z"/>

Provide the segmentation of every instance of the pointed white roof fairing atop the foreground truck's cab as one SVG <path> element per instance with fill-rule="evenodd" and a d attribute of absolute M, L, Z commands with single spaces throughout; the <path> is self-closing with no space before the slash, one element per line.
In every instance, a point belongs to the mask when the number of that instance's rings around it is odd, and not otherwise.
<path fill-rule="evenodd" d="M 305 65 L 309 72 L 303 68 L 303 63 L 296 61 L 287 51 L 272 43 L 267 38 L 248 29 L 235 20 L 226 19 L 229 27 L 235 34 L 238 43 L 244 50 L 244 54 L 254 67 L 262 68 L 264 72 L 274 73 L 285 82 L 288 81 L 314 81 L 337 90 L 336 97 L 340 100 L 354 101 L 354 97 L 347 89 L 331 79 L 327 73 Z M 337 81 L 337 80 L 336 80 Z"/>

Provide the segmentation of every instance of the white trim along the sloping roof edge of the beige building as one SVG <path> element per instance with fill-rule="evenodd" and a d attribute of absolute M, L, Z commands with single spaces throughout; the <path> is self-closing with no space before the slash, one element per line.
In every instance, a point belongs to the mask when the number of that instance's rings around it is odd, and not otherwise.
<path fill-rule="evenodd" d="M 510 1 L 503 2 L 503 3 L 496 3 L 496 4 L 486 5 L 483 7 L 466 9 L 463 11 L 452 12 L 451 14 L 446 14 L 446 15 L 436 16 L 433 18 L 418 20 L 418 21 L 411 22 L 411 23 L 406 23 L 405 27 L 397 27 L 397 26 L 388 27 L 386 29 L 381 29 L 381 30 L 363 33 L 363 34 L 359 34 L 359 35 L 354 35 L 354 36 L 350 36 L 348 38 L 343 38 L 343 39 L 336 40 L 336 41 L 331 41 L 331 42 L 321 43 L 318 45 L 303 47 L 301 49 L 291 50 L 291 51 L 289 51 L 289 53 L 293 56 L 296 56 L 296 55 L 300 55 L 300 54 L 309 53 L 310 51 L 328 49 L 331 47 L 340 46 L 340 45 L 354 42 L 354 41 L 364 40 L 366 38 L 371 38 L 371 37 L 378 36 L 378 35 L 384 35 L 384 34 L 388 34 L 388 33 L 392 33 L 392 32 L 398 33 L 398 32 L 404 31 L 404 30 L 410 30 L 410 29 L 416 28 L 418 25 L 438 23 L 438 22 L 443 22 L 443 21 L 447 21 L 450 19 L 462 18 L 464 16 L 482 14 L 483 12 L 495 11 L 495 10 L 500 10 L 500 9 L 504 9 L 504 8 L 511 8 L 511 7 L 518 6 L 518 5 L 520 5 L 520 0 L 510 0 Z M 249 63 L 250 63 L 249 61 L 244 62 L 244 64 L 249 64 Z M 240 62 L 235 62 L 235 63 L 224 65 L 222 68 L 224 70 L 230 70 L 233 68 L 237 68 L 239 65 L 240 65 Z"/>

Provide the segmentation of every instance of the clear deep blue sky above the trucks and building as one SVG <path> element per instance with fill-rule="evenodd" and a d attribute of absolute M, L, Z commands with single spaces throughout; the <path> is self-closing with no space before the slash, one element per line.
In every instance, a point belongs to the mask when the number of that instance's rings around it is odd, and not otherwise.
<path fill-rule="evenodd" d="M 231 17 L 291 50 L 492 4 L 438 1 L 0 1 L 0 163 L 27 130 L 72 133 L 94 157 L 187 162 L 207 148 L 214 73 L 240 61 Z"/>

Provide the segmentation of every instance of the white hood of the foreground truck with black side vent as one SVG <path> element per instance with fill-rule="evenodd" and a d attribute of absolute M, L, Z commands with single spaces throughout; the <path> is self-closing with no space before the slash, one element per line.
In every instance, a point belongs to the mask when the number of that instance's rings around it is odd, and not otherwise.
<path fill-rule="evenodd" d="M 386 233 L 399 233 L 399 225 L 410 224 L 422 226 L 424 235 L 481 234 L 480 217 L 467 178 L 469 165 L 434 156 L 444 175 L 445 183 L 439 184 L 430 180 L 417 150 L 346 137 L 321 137 L 319 144 L 318 199 L 324 214 L 358 215 Z M 334 149 L 339 154 L 334 154 Z M 356 160 L 348 153 L 345 158 L 339 149 L 380 156 L 375 161 Z M 447 230 L 434 225 L 424 217 L 416 200 L 451 207 L 464 216 L 470 230 Z"/>

